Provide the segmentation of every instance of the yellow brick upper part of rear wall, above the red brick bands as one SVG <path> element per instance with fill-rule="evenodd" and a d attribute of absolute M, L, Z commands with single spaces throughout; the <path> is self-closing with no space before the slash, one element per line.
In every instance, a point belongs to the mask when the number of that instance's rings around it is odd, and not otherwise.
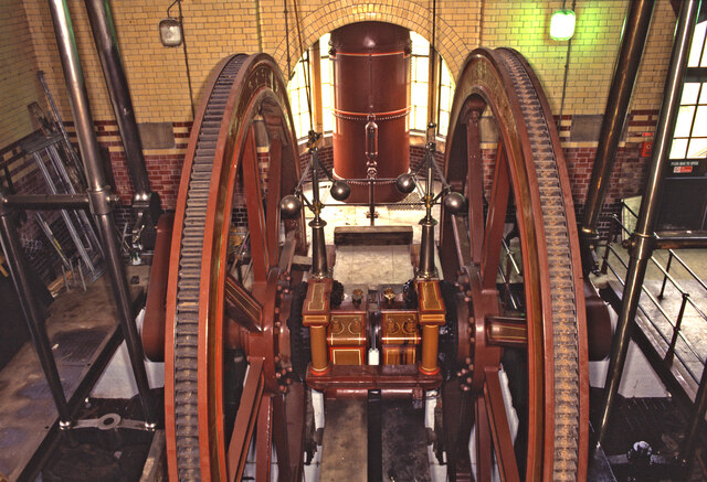
<path fill-rule="evenodd" d="M 25 26 L 22 28 L 23 35 L 15 35 L 17 39 L 12 38 L 6 44 L 22 44 L 30 49 L 29 55 L 24 57 L 34 57 L 36 67 L 46 72 L 52 89 L 62 93 L 62 69 L 46 2 L 12 1 L 20 7 L 14 10 L 27 12 L 23 21 Z M 560 0 L 437 2 L 437 49 L 454 76 L 458 74 L 468 52 L 478 45 L 511 46 L 519 50 L 537 69 L 550 105 L 558 113 L 568 42 L 549 39 L 548 30 L 552 11 L 561 8 L 562 3 Z M 675 14 L 668 0 L 658 0 L 656 3 L 633 109 L 657 107 L 667 68 Z M 183 51 L 181 47 L 163 47 L 159 41 L 158 23 L 167 17 L 168 4 L 169 2 L 151 0 L 123 0 L 113 3 L 125 69 L 140 122 L 191 120 Z M 627 0 L 578 2 L 577 33 L 572 40 L 564 99 L 566 113 L 603 111 L 627 4 Z M 255 10 L 256 6 L 260 8 L 258 12 Z M 283 72 L 287 72 L 289 51 L 289 68 L 294 67 L 300 57 L 298 32 L 302 33 L 302 46 L 305 49 L 324 33 L 363 20 L 401 24 L 428 40 L 432 35 L 432 2 L 429 0 L 299 0 L 297 15 L 293 4 L 288 2 L 288 6 L 287 38 L 284 34 L 283 2 L 279 0 L 201 0 L 182 3 L 193 101 L 197 105 L 209 73 L 225 55 L 264 51 L 275 57 Z M 70 11 L 94 116 L 96 120 L 110 119 L 113 110 L 85 8 L 82 2 L 70 2 Z M 299 30 L 296 26 L 297 18 Z M 33 49 L 27 46 L 28 39 Z M 4 95 L 6 93 L 0 93 L 0 97 Z M 65 96 L 57 97 L 63 117 L 70 118 Z"/>

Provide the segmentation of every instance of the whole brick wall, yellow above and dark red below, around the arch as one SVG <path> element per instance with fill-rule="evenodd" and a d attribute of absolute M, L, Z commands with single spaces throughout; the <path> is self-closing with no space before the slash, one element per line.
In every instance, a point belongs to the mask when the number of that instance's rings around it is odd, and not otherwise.
<path fill-rule="evenodd" d="M 288 35 L 281 0 L 184 0 L 184 31 L 193 96 L 187 82 L 182 47 L 163 47 L 158 23 L 167 17 L 170 1 L 113 1 L 113 14 L 126 75 L 138 122 L 167 122 L 172 126 L 175 146 L 147 149 L 145 158 L 152 186 L 160 192 L 163 205 L 173 208 L 181 163 L 192 120 L 192 103 L 199 105 L 202 86 L 213 66 L 235 52 L 264 51 L 272 54 L 287 72 L 307 47 L 321 34 L 338 26 L 363 20 L 380 20 L 407 26 L 431 40 L 432 2 L 430 0 L 299 0 L 297 14 L 288 4 Z M 535 67 L 550 106 L 559 114 L 562 103 L 568 42 L 548 36 L 550 14 L 561 8 L 561 0 L 446 0 L 437 2 L 436 45 L 456 76 L 471 50 L 478 45 L 511 46 L 519 50 Z M 620 32 L 629 0 L 578 2 L 577 33 L 569 52 L 569 71 L 560 133 L 572 178 L 576 203 L 584 199 L 588 169 L 597 148 L 594 141 L 571 139 L 577 116 L 601 115 L 604 109 Z M 8 0 L 0 15 L 0 148 L 32 130 L 27 104 L 44 95 L 36 82 L 36 71 L 45 72 L 62 117 L 71 128 L 71 113 L 63 83 L 52 21 L 44 0 Z M 110 154 L 117 192 L 124 203 L 130 200 L 130 183 L 125 156 L 113 120 L 98 56 L 83 2 L 68 2 L 78 44 L 86 87 L 96 130 L 102 146 Z M 257 11 L 256 11 L 257 9 Z M 172 10 L 176 14 L 176 10 Z M 297 29 L 297 20 L 300 29 Z M 645 160 L 639 158 L 644 133 L 653 131 L 659 105 L 675 24 L 668 0 L 657 0 L 637 85 L 631 104 L 630 126 L 619 152 L 608 205 L 622 195 L 640 192 Z M 289 63 L 288 63 L 289 58 Z M 193 97 L 193 98 L 190 98 Z M 489 148 L 487 156 L 493 156 Z M 486 153 L 486 152 L 485 152 Z M 411 148 L 411 165 L 416 165 L 422 150 Z M 321 150 L 323 162 L 331 167 L 330 149 Z M 20 172 L 20 171 L 13 171 Z M 128 219 L 129 210 L 119 210 L 118 218 Z"/>

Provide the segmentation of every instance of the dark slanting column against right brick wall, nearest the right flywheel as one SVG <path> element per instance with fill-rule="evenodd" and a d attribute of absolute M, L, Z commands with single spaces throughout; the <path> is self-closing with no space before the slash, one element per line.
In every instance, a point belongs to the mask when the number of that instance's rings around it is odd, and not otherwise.
<path fill-rule="evenodd" d="M 594 269 L 591 250 L 597 243 L 597 222 L 611 181 L 616 148 L 621 139 L 643 47 L 648 34 L 654 4 L 655 0 L 630 2 L 626 14 L 625 30 L 621 39 L 621 50 L 619 51 L 609 97 L 606 98 L 597 157 L 594 158 L 592 178 L 589 183 L 590 189 L 587 192 L 582 225 L 579 231 L 582 246 L 582 264 L 585 272 Z"/>

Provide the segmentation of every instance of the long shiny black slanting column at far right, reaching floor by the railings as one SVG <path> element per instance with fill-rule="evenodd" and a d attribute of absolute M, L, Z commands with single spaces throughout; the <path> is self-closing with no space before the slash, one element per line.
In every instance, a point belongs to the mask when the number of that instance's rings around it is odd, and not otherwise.
<path fill-rule="evenodd" d="M 604 403 L 599 424 L 598 441 L 604 439 L 609 426 L 609 417 L 621 384 L 621 375 L 626 362 L 626 353 L 634 325 L 634 318 L 639 308 L 641 288 L 645 270 L 653 254 L 653 228 L 658 208 L 658 193 L 661 191 L 663 172 L 668 162 L 668 150 L 677 119 L 680 95 L 683 90 L 683 75 L 687 66 L 689 44 L 695 30 L 695 20 L 701 0 L 686 0 L 683 2 L 675 29 L 675 40 L 671 53 L 668 75 L 663 90 L 663 104 L 655 130 L 653 156 L 646 181 L 645 192 L 641 200 L 639 219 L 632 236 L 631 257 L 624 285 L 619 324 L 611 347 L 611 358 L 604 386 Z M 707 401 L 705 403 L 707 406 Z M 704 416 L 705 414 L 703 414 Z"/>

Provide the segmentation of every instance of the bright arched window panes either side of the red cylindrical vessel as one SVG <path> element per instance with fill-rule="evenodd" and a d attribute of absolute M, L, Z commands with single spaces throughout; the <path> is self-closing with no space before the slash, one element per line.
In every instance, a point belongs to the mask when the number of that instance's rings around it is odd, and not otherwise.
<path fill-rule="evenodd" d="M 430 82 L 430 43 L 422 36 L 414 32 L 410 32 L 412 40 L 412 58 L 410 63 L 410 129 L 418 131 L 425 131 L 428 124 L 428 89 Z M 293 71 L 289 84 L 287 84 L 287 94 L 289 95 L 289 103 L 292 105 L 293 117 L 295 121 L 295 130 L 298 138 L 307 136 L 312 124 L 309 121 L 309 105 L 313 109 L 313 119 L 317 121 L 315 111 L 316 106 L 316 88 L 315 68 L 309 62 L 312 60 L 318 61 L 319 65 L 319 86 L 321 88 L 321 129 L 325 132 L 334 129 L 334 114 L 331 108 L 334 107 L 334 66 L 329 60 L 329 34 L 325 34 L 319 39 L 319 42 L 307 51 L 307 54 L 297 62 L 295 69 Z M 450 73 L 446 62 L 440 57 L 441 62 L 437 62 L 440 72 L 437 78 L 440 79 L 437 86 L 439 96 L 439 109 L 435 113 L 435 119 L 437 122 L 437 132 L 442 136 L 446 136 L 450 121 L 450 110 L 452 108 L 452 98 L 454 94 L 454 79 Z M 312 97 L 309 103 L 307 101 L 306 89 L 306 76 L 309 77 L 312 85 Z"/>

